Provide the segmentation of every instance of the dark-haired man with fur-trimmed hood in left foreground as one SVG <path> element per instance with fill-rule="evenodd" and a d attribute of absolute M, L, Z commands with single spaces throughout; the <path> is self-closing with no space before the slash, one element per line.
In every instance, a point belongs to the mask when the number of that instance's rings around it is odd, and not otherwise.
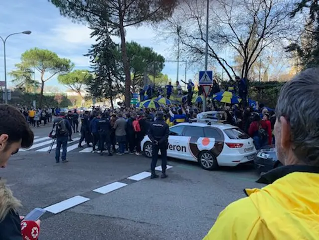
<path fill-rule="evenodd" d="M 19 148 L 32 146 L 34 136 L 25 117 L 17 108 L 0 104 L 0 116 L 0 167 L 5 168 L 9 158 L 17 153 Z M 0 180 L 0 240 L 28 238 L 25 236 L 25 229 L 21 230 L 23 217 L 19 217 L 17 213 L 19 207 L 20 202 L 13 197 L 5 181 Z M 38 230 L 40 221 L 28 221 L 27 225 L 33 225 Z M 30 234 L 31 232 L 28 235 Z"/>

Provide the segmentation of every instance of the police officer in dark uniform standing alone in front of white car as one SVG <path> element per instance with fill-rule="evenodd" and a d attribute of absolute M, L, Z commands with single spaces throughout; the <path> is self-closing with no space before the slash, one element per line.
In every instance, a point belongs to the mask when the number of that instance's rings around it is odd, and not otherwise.
<path fill-rule="evenodd" d="M 155 122 L 152 122 L 149 131 L 149 138 L 153 143 L 153 157 L 151 163 L 151 179 L 158 178 L 159 175 L 155 173 L 155 167 L 158 162 L 159 150 L 161 155 L 161 178 L 166 178 L 166 165 L 167 165 L 167 146 L 169 128 L 165 123 L 163 112 L 157 113 Z"/>

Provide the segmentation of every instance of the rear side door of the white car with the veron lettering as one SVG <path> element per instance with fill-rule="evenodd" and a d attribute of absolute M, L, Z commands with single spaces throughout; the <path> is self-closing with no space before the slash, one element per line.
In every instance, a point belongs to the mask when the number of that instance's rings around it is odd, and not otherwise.
<path fill-rule="evenodd" d="M 189 161 L 197 161 L 198 149 L 197 140 L 204 137 L 204 128 L 199 126 L 185 126 L 181 146 L 186 146 L 187 151 L 183 153 L 183 159 Z"/>

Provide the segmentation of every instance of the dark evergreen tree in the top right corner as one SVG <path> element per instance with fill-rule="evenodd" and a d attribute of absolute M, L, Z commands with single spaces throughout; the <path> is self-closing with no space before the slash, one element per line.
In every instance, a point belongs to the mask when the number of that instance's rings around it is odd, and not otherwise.
<path fill-rule="evenodd" d="M 300 0 L 291 13 L 296 17 L 297 13 L 307 9 L 309 17 L 305 23 L 305 31 L 301 35 L 300 42 L 289 45 L 286 50 L 293 52 L 294 57 L 301 61 L 302 69 L 319 66 L 319 3 L 318 0 Z M 297 66 L 298 67 L 298 66 Z"/>

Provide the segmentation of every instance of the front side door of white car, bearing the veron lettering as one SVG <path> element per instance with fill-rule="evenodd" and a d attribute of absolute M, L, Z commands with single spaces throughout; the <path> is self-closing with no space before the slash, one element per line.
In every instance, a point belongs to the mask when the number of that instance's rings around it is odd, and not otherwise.
<path fill-rule="evenodd" d="M 184 126 L 183 125 L 175 125 L 169 128 L 169 136 L 168 136 L 168 149 L 167 156 L 172 158 L 179 158 L 179 153 L 182 151 L 186 151 L 186 148 L 182 148 L 179 145 L 181 138 L 183 138 Z"/>

